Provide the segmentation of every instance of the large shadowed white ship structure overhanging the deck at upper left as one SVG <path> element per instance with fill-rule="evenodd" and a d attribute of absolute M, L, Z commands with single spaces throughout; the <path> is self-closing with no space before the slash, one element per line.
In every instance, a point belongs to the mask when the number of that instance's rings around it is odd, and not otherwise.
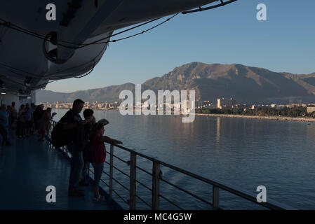
<path fill-rule="evenodd" d="M 34 90 L 49 82 L 86 76 L 100 62 L 117 29 L 234 1 L 1 1 L 1 102 L 17 106 L 35 102 Z"/>

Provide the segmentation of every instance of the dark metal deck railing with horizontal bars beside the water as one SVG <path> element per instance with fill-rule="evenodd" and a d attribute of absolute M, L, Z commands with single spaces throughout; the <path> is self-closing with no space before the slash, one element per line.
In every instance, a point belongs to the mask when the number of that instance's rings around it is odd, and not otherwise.
<path fill-rule="evenodd" d="M 55 124 L 56 124 L 56 122 L 52 120 L 50 130 L 53 130 L 53 127 L 55 127 Z M 50 139 L 51 131 L 48 132 L 47 137 L 48 137 L 48 139 Z M 51 141 L 48 141 L 48 142 L 49 142 L 49 144 L 51 144 Z M 126 160 L 123 160 L 123 159 L 119 158 L 118 156 L 114 155 L 114 146 L 122 149 L 123 151 L 130 153 L 130 160 L 126 161 Z M 62 147 L 62 151 L 64 153 L 66 153 L 67 155 L 69 155 L 66 146 Z M 250 195 L 248 193 L 244 193 L 241 190 L 236 190 L 236 188 L 234 188 L 234 187 L 232 188 L 232 187 L 229 187 L 229 186 L 224 185 L 222 183 L 219 183 L 217 181 L 206 179 L 203 176 L 193 174 L 192 172 L 189 172 L 185 169 L 180 169 L 179 167 L 175 167 L 175 166 L 170 165 L 166 162 L 156 160 L 156 159 L 151 158 L 147 155 L 144 155 L 142 153 L 138 153 L 137 151 L 133 151 L 133 150 L 126 148 L 126 147 L 123 147 L 123 146 L 119 146 L 116 144 L 110 144 L 110 151 L 109 152 L 107 151 L 106 153 L 109 154 L 109 162 L 106 162 L 109 165 L 109 174 L 105 171 L 103 171 L 103 173 L 106 174 L 107 176 L 109 176 L 109 183 L 106 183 L 104 180 L 101 180 L 101 181 L 102 181 L 102 183 L 104 183 L 109 188 L 109 197 L 112 198 L 113 193 L 115 193 L 123 202 L 128 204 L 130 210 L 136 209 L 136 202 L 137 202 L 136 199 L 137 198 L 141 202 L 146 204 L 147 207 L 149 207 L 152 210 L 160 209 L 160 207 L 159 207 L 160 198 L 162 198 L 163 200 L 166 200 L 168 203 L 172 204 L 173 206 L 177 207 L 178 209 L 182 209 L 182 207 L 180 207 L 178 204 L 176 204 L 175 202 L 170 200 L 168 197 L 161 195 L 161 193 L 160 193 L 160 182 L 161 181 L 163 181 L 163 183 L 168 184 L 168 186 L 176 188 L 177 190 L 180 190 L 183 193 L 186 193 L 187 195 L 194 197 L 196 200 L 199 200 L 203 203 L 208 204 L 210 206 L 210 208 L 215 209 L 215 210 L 221 209 L 219 206 L 219 204 L 220 204 L 219 203 L 220 202 L 219 190 L 220 189 L 224 190 L 228 193 L 231 193 L 232 195 L 246 199 L 246 200 L 253 202 L 255 204 L 259 204 L 260 206 L 265 207 L 267 209 L 276 209 L 276 210 L 283 210 L 283 209 L 292 210 L 292 209 L 294 209 L 293 207 L 289 207 L 286 204 L 281 204 L 279 202 L 275 202 L 274 200 L 268 200 L 268 202 L 257 202 L 257 198 L 255 197 L 255 195 Z M 141 167 L 138 167 L 138 165 L 137 165 L 137 158 L 138 157 L 145 158 L 145 159 L 149 160 L 150 162 L 152 162 L 152 173 L 148 172 L 145 169 L 142 169 Z M 121 169 L 119 169 L 119 167 L 116 167 L 114 165 L 114 158 L 116 158 L 117 160 L 120 160 L 121 162 L 126 163 L 130 167 L 129 168 L 129 174 L 126 174 L 126 172 L 123 172 Z M 212 202 L 209 202 L 208 200 L 205 200 L 204 198 L 199 197 L 198 195 L 195 195 L 194 193 L 189 192 L 189 190 L 185 190 L 184 188 L 175 185 L 175 183 L 170 183 L 170 181 L 163 179 L 163 174 L 161 172 L 161 165 L 164 167 L 168 167 L 169 169 L 172 169 L 176 172 L 180 172 L 181 174 L 185 174 L 187 176 L 190 176 L 193 179 L 202 181 L 203 183 L 207 183 L 208 185 L 212 186 L 212 196 L 213 196 Z M 123 183 L 119 182 L 117 179 L 114 178 L 114 169 L 116 169 L 119 173 L 123 174 L 123 176 L 128 177 L 129 188 L 127 188 Z M 139 181 L 137 179 L 137 176 L 136 176 L 137 169 L 152 176 L 152 188 L 146 186 L 145 183 L 142 183 L 141 181 Z M 119 195 L 119 193 L 116 190 L 114 190 L 113 181 L 115 181 L 115 183 L 118 183 L 119 186 L 121 186 L 125 190 L 128 190 L 129 197 L 127 200 L 125 198 L 123 198 L 123 196 Z M 137 183 L 140 184 L 140 186 L 146 188 L 147 190 L 149 190 L 151 192 L 151 204 L 146 202 L 142 197 L 140 197 L 140 195 L 136 194 Z M 211 190 L 211 188 L 209 188 L 209 190 Z"/>

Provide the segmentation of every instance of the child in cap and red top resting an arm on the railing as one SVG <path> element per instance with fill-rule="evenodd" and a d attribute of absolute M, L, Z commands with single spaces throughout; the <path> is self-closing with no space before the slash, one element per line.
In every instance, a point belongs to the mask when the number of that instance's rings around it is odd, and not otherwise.
<path fill-rule="evenodd" d="M 92 141 L 92 151 L 93 151 L 93 168 L 94 168 L 94 200 L 96 202 L 102 202 L 105 200 L 105 197 L 100 195 L 99 192 L 99 183 L 102 177 L 102 172 L 104 169 L 104 162 L 106 158 L 106 150 L 104 142 L 109 144 L 123 144 L 121 141 L 111 139 L 107 136 L 104 136 L 104 126 L 109 122 L 106 119 L 99 120 L 93 127 L 91 134 Z"/>

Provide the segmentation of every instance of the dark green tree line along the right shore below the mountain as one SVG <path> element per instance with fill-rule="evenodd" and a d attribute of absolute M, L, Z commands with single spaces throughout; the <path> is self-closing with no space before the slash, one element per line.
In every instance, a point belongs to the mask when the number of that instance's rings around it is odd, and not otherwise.
<path fill-rule="evenodd" d="M 304 106 L 284 107 L 282 109 L 274 109 L 271 107 L 262 107 L 257 109 L 196 109 L 196 113 L 212 113 L 212 114 L 232 114 L 243 116 L 286 116 L 291 118 L 310 117 L 315 118 L 315 112 L 307 113 Z"/>

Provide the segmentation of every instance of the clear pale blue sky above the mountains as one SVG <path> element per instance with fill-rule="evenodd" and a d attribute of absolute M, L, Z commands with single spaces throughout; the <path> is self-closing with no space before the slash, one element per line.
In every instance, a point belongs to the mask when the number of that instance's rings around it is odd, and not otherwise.
<path fill-rule="evenodd" d="M 267 6 L 267 21 L 256 18 L 259 3 Z M 145 34 L 109 43 L 88 76 L 58 80 L 46 90 L 74 92 L 141 84 L 190 62 L 314 73 L 314 10 L 314 0 L 239 0 L 212 10 L 179 14 Z M 114 38 L 135 34 L 169 17 Z"/>

